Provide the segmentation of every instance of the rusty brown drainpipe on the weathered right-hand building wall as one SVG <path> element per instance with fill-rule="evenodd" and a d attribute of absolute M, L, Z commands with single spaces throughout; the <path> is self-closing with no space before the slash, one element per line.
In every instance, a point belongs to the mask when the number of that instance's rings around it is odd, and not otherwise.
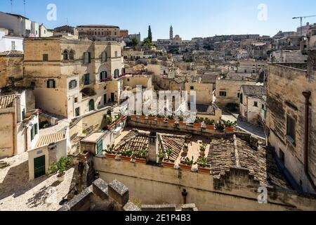
<path fill-rule="evenodd" d="M 316 186 L 312 177 L 308 172 L 308 143 L 309 143 L 309 124 L 310 124 L 310 96 L 312 95 L 310 91 L 303 91 L 303 96 L 305 97 L 305 143 L 304 143 L 304 172 L 308 177 L 308 181 L 312 185 L 312 188 L 316 192 Z"/>

